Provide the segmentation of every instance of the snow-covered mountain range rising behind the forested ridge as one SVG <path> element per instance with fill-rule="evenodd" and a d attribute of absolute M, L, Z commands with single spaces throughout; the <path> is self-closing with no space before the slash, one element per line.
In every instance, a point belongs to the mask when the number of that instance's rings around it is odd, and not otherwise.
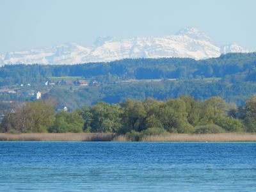
<path fill-rule="evenodd" d="M 211 38 L 195 28 L 181 29 L 175 35 L 154 37 L 138 36 L 118 40 L 97 38 L 91 47 L 63 44 L 28 51 L 0 54 L 0 64 L 76 64 L 113 61 L 124 58 L 195 58 L 196 60 L 218 57 L 221 53 L 248 52 L 237 44 L 218 46 Z"/>

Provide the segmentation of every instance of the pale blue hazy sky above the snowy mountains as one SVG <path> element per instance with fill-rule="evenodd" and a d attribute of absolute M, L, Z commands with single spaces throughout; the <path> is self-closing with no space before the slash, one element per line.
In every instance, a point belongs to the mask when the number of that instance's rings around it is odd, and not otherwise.
<path fill-rule="evenodd" d="M 256 50 L 255 0 L 0 0 L 0 53 L 98 36 L 164 36 L 195 27 L 216 44 Z"/>

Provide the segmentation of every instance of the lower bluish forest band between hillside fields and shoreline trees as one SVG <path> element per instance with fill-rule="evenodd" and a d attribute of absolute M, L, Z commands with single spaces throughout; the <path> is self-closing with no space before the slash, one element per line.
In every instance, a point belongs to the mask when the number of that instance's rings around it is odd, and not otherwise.
<path fill-rule="evenodd" d="M 209 97 L 222 97 L 237 106 L 244 105 L 246 99 L 256 92 L 256 83 L 223 83 L 222 81 L 205 82 L 204 80 L 180 80 L 160 82 L 138 82 L 126 84 L 106 84 L 86 87 L 70 92 L 60 88 L 52 89 L 44 98 L 51 97 L 58 104 L 70 109 L 90 106 L 99 100 L 110 104 L 123 102 L 126 99 L 144 100 L 152 97 L 157 100 L 168 100 L 180 95 L 191 95 L 198 100 Z"/>

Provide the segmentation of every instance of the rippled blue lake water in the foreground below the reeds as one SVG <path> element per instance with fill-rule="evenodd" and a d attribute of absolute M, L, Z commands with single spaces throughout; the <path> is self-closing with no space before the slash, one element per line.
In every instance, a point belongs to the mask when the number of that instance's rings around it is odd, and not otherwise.
<path fill-rule="evenodd" d="M 0 142 L 0 191 L 256 191 L 256 143 Z"/>

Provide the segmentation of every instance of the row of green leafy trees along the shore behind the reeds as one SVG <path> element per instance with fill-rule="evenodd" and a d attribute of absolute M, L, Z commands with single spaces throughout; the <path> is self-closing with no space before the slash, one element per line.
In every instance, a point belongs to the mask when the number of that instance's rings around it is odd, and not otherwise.
<path fill-rule="evenodd" d="M 97 102 L 75 111 L 56 113 L 51 102 L 2 104 L 1 132 L 115 132 L 134 140 L 141 135 L 177 133 L 256 132 L 256 95 L 236 107 L 221 97 L 204 101 L 177 99 Z"/>

